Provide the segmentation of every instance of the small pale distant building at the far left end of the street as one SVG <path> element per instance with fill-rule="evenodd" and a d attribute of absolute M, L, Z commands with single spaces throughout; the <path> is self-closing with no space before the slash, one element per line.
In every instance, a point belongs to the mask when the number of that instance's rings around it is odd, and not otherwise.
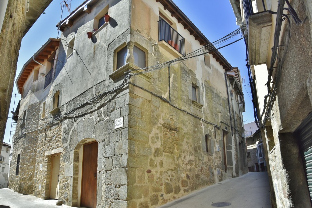
<path fill-rule="evenodd" d="M 9 185 L 10 151 L 11 145 L 3 142 L 0 155 L 0 188 L 7 188 Z"/>

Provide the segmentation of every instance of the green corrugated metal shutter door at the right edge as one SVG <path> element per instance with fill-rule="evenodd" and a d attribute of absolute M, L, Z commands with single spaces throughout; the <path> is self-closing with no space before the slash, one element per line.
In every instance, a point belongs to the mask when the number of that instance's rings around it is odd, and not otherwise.
<path fill-rule="evenodd" d="M 312 113 L 300 124 L 295 131 L 299 138 L 300 151 L 305 164 L 306 179 L 312 199 Z M 311 206 L 312 206 L 312 201 Z"/>

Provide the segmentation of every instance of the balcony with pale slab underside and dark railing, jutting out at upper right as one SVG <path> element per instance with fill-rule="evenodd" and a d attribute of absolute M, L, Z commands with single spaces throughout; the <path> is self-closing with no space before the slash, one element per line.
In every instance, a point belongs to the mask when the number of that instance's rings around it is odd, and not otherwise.
<path fill-rule="evenodd" d="M 243 0 L 248 30 L 249 63 L 266 63 L 272 30 L 271 0 Z"/>

